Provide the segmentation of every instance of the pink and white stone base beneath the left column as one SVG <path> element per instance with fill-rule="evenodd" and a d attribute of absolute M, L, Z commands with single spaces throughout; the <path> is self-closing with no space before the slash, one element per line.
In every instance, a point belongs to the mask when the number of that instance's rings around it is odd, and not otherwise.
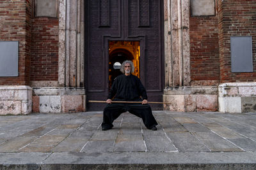
<path fill-rule="evenodd" d="M 33 112 L 76 113 L 86 111 L 85 90 L 81 87 L 34 87 Z"/>

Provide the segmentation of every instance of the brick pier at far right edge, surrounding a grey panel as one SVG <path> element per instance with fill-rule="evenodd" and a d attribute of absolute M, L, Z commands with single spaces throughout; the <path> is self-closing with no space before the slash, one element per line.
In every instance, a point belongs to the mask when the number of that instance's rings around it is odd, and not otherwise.
<path fill-rule="evenodd" d="M 256 81 L 256 1 L 218 1 L 221 82 Z M 252 36 L 253 73 L 231 73 L 230 36 Z"/>

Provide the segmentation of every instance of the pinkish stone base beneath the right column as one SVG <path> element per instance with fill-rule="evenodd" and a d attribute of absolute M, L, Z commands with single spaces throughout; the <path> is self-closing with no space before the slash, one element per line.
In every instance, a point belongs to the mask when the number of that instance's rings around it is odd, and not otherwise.
<path fill-rule="evenodd" d="M 164 89 L 164 110 L 170 111 L 218 111 L 218 88 L 168 87 Z"/>

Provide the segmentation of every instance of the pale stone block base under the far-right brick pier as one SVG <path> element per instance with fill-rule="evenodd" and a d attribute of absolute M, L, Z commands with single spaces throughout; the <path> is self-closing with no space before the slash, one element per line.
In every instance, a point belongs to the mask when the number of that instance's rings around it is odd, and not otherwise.
<path fill-rule="evenodd" d="M 256 112 L 256 82 L 222 83 L 218 87 L 219 111 Z"/>

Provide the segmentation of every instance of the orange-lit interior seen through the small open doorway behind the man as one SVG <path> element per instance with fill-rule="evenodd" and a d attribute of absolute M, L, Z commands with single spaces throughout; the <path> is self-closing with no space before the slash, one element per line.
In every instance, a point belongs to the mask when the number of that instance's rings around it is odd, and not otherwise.
<path fill-rule="evenodd" d="M 125 60 L 132 60 L 133 74 L 140 78 L 140 41 L 109 41 L 109 89 L 116 76 L 122 74 L 120 69 L 114 68 L 114 64 L 122 64 Z"/>

